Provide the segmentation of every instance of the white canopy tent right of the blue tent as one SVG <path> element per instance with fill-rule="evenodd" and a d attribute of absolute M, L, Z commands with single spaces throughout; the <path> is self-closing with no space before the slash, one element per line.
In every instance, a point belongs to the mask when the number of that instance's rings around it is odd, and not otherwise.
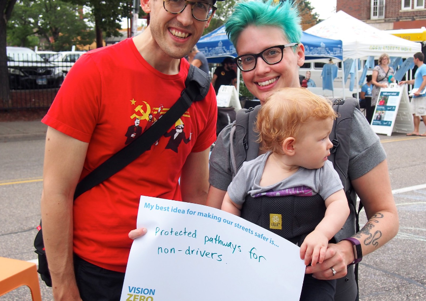
<path fill-rule="evenodd" d="M 324 38 L 341 40 L 343 60 L 349 58 L 354 60 L 367 59 L 369 56 L 374 56 L 377 59 L 383 53 L 390 57 L 409 58 L 422 51 L 420 43 L 404 40 L 378 30 L 343 11 L 338 11 L 327 20 L 306 30 L 306 32 Z M 343 68 L 342 72 L 344 72 Z M 358 75 L 358 72 L 356 74 Z"/>

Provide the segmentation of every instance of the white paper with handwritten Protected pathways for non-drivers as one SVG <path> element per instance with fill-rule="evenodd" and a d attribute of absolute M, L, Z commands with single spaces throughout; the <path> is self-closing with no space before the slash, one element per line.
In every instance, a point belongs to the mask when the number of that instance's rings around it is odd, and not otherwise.
<path fill-rule="evenodd" d="M 218 209 L 141 197 L 121 301 L 298 301 L 299 247 Z"/>

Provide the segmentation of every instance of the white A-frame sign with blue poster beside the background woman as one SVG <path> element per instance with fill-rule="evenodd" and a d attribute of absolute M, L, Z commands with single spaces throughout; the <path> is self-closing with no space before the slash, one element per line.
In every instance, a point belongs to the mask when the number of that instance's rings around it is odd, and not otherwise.
<path fill-rule="evenodd" d="M 413 118 L 409 108 L 407 86 L 392 85 L 380 89 L 374 109 L 371 128 L 376 134 L 391 136 L 393 132 L 407 133 L 413 130 Z"/>

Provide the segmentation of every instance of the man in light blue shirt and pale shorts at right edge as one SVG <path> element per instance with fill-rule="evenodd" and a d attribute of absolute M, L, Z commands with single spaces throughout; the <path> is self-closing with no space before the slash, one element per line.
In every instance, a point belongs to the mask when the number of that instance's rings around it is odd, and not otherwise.
<path fill-rule="evenodd" d="M 414 131 L 407 133 L 407 136 L 426 136 L 426 132 L 420 134 L 420 117 L 422 117 L 423 122 L 426 125 L 426 65 L 423 63 L 425 60 L 425 55 L 421 52 L 418 52 L 414 55 L 414 64 L 417 66 L 416 74 L 414 75 L 414 80 L 409 81 L 400 81 L 399 85 L 408 84 L 413 85 L 414 89 L 418 89 L 414 92 L 413 98 L 410 102 L 411 113 L 413 113 L 414 120 Z"/>

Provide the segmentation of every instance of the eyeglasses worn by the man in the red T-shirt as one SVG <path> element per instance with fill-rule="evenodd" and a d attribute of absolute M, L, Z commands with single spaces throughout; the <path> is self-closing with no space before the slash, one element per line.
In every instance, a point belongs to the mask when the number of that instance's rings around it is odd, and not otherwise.
<path fill-rule="evenodd" d="M 201 1 L 163 0 L 164 9 L 174 15 L 184 11 L 186 5 L 191 5 L 192 16 L 198 21 L 207 21 L 217 9 L 217 7 Z"/>

